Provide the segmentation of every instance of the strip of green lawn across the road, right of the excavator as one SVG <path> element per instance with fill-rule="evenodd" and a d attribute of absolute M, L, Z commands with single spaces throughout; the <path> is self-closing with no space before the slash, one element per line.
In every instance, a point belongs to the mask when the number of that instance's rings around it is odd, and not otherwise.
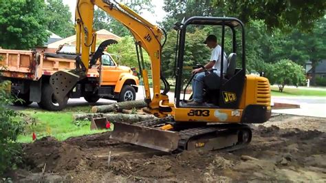
<path fill-rule="evenodd" d="M 326 96 L 326 89 L 287 88 L 279 92 L 279 87 L 272 86 L 272 96 Z"/>

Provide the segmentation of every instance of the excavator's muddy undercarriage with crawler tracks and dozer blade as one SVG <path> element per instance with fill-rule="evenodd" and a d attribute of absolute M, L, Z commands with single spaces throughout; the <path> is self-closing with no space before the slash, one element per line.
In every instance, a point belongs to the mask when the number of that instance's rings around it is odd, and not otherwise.
<path fill-rule="evenodd" d="M 166 125 L 173 128 L 163 130 L 162 127 Z M 234 151 L 246 147 L 251 137 L 248 125 L 206 125 L 206 123 L 191 125 L 174 122 L 173 118 L 168 117 L 137 122 L 133 125 L 114 122 L 110 138 L 160 151 L 180 153 L 194 149 Z"/>

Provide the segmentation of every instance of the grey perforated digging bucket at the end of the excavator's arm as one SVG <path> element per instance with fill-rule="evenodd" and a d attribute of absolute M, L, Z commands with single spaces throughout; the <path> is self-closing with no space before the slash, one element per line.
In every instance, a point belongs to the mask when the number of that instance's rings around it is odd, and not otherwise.
<path fill-rule="evenodd" d="M 63 102 L 65 96 L 72 90 L 79 80 L 86 77 L 85 72 L 80 69 L 69 71 L 58 71 L 50 77 L 50 85 L 54 89 L 54 96 L 59 103 Z"/>

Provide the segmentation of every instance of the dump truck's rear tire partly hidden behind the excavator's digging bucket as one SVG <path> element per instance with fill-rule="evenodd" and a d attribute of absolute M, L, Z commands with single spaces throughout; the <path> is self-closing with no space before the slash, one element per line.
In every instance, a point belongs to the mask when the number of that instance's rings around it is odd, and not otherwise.
<path fill-rule="evenodd" d="M 48 111 L 61 111 L 65 109 L 68 103 L 68 97 L 66 96 L 63 103 L 58 103 L 54 98 L 54 91 L 49 83 L 44 83 L 42 86 L 41 102 L 38 103 L 39 107 Z"/>

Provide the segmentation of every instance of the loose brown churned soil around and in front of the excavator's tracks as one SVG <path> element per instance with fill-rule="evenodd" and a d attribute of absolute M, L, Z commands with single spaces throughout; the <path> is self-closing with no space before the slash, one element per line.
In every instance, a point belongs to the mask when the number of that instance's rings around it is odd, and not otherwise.
<path fill-rule="evenodd" d="M 24 144 L 17 182 L 325 182 L 325 118 L 275 116 L 251 125 L 238 151 L 169 154 L 109 140 L 109 133 Z M 111 154 L 111 156 L 109 156 Z M 111 158 L 109 158 L 111 157 Z"/>

